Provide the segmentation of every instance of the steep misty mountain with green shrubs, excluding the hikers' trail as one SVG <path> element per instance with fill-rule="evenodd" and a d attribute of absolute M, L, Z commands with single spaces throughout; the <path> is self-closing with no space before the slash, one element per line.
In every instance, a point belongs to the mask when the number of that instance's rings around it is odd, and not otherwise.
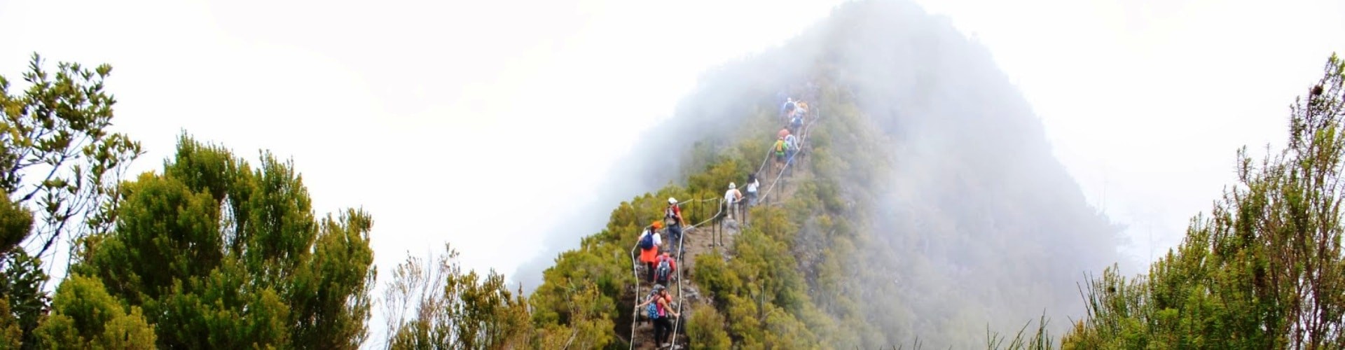
<path fill-rule="evenodd" d="M 799 176 L 751 211 L 726 252 L 687 254 L 705 302 L 683 315 L 691 345 L 967 349 L 987 328 L 1045 314 L 1060 330 L 1080 315 L 1075 281 L 1115 260 L 1116 228 L 1087 206 L 985 50 L 915 5 L 859 1 L 707 74 L 647 155 L 683 180 L 621 203 L 562 253 L 533 293 L 534 320 L 611 327 L 594 343 L 627 347 L 640 228 L 660 199 L 742 183 L 780 128 L 781 97 L 806 92 L 824 123 Z M 593 312 L 576 311 L 582 291 L 596 293 L 581 300 Z"/>

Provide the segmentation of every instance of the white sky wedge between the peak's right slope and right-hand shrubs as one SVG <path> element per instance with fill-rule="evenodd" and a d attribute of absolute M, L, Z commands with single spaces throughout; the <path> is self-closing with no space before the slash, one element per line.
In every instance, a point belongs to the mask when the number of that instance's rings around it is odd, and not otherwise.
<path fill-rule="evenodd" d="M 1236 180 L 1237 147 L 1283 144 L 1294 97 L 1345 55 L 1340 0 L 919 3 L 990 48 L 1143 261 Z"/>

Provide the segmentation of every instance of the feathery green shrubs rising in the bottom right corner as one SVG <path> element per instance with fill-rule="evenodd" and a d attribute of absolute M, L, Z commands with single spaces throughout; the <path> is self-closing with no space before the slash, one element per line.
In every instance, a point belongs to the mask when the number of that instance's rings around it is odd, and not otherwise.
<path fill-rule="evenodd" d="M 1127 280 L 1088 288 L 1088 318 L 1067 349 L 1340 349 L 1345 343 L 1345 65 L 1291 108 L 1287 147 L 1259 164 L 1239 151 L 1239 183 L 1192 219 L 1181 246 Z"/>

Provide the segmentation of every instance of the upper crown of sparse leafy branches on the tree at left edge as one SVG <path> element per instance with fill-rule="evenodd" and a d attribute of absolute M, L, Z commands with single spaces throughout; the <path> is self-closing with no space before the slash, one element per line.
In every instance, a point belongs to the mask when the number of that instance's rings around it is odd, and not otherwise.
<path fill-rule="evenodd" d="M 70 233 L 106 230 L 117 180 L 141 155 L 139 143 L 109 131 L 117 102 L 104 92 L 109 73 L 109 65 L 69 62 L 48 71 L 34 54 L 23 74 L 27 90 L 12 94 L 0 75 L 0 188 L 35 207 L 36 256 Z M 0 253 L 23 241 L 12 232 L 0 238 Z"/>

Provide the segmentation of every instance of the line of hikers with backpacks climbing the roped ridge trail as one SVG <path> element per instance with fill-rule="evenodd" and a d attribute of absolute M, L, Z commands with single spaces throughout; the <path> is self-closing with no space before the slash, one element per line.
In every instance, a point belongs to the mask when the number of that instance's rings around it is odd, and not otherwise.
<path fill-rule="evenodd" d="M 800 132 L 806 118 L 808 117 L 808 104 L 803 101 L 796 101 L 792 97 L 787 98 L 784 106 L 780 108 L 785 127 L 777 133 L 776 141 L 772 148 L 772 155 L 775 158 L 775 174 L 783 171 L 785 164 L 799 152 L 800 140 L 795 137 L 795 133 Z M 746 209 L 757 205 L 761 183 L 757 180 L 756 174 L 748 174 L 748 182 L 745 186 L 745 193 L 737 188 L 736 182 L 729 182 L 728 191 L 724 193 L 724 206 L 725 218 L 733 221 L 737 218 L 744 218 L 745 215 L 736 213 L 746 213 Z M 745 201 L 745 206 L 744 206 Z M 667 225 L 667 241 L 659 234 L 659 230 L 664 229 Z M 651 292 L 644 296 L 644 302 L 636 306 L 638 310 L 643 310 L 644 316 L 654 324 L 654 341 L 659 347 L 670 346 L 668 339 L 672 337 L 672 320 L 671 318 L 679 318 L 681 315 L 672 307 L 672 296 L 668 293 L 670 281 L 677 281 L 677 262 L 682 256 L 682 229 L 685 225 L 685 218 L 682 217 L 682 207 L 677 198 L 668 198 L 667 206 L 663 209 L 663 218 L 655 219 L 644 232 L 636 246 L 640 249 L 640 267 L 644 268 L 646 276 L 650 284 L 654 287 Z M 675 248 L 675 249 L 674 249 Z M 675 258 L 672 252 L 677 252 Z"/>

